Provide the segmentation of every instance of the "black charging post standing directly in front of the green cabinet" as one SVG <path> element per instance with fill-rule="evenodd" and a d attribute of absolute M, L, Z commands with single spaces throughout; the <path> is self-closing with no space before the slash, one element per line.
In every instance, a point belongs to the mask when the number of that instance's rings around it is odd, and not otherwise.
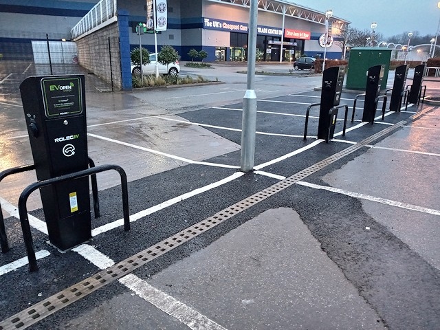
<path fill-rule="evenodd" d="M 377 109 L 377 96 L 385 74 L 385 65 L 370 67 L 366 73 L 365 102 L 362 122 L 374 122 Z"/>

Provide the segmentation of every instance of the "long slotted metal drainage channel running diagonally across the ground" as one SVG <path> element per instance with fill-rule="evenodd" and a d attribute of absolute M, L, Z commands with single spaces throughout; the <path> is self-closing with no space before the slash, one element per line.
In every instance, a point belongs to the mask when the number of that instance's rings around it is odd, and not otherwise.
<path fill-rule="evenodd" d="M 366 144 L 370 144 L 374 140 L 377 140 L 379 137 L 391 133 L 391 131 L 395 131 L 400 126 L 408 124 L 412 120 L 415 120 L 420 115 L 423 115 L 433 108 L 434 107 L 429 107 L 424 111 L 410 116 L 408 120 L 397 122 L 397 124 L 389 126 L 388 128 L 378 133 L 375 133 L 374 135 L 371 135 L 371 137 L 362 140 L 358 144 L 349 146 L 349 148 L 346 148 L 334 155 L 331 155 L 330 157 L 327 157 L 326 159 L 323 159 L 322 161 L 308 168 L 305 168 L 304 170 L 301 170 L 291 177 L 287 177 L 283 181 L 279 181 L 276 184 L 265 188 L 264 190 L 261 190 L 260 192 L 257 192 L 256 194 L 246 199 L 243 199 L 242 201 L 239 201 L 238 203 L 235 203 L 234 205 L 225 208 L 220 212 L 217 212 L 211 217 L 208 217 L 207 219 L 200 221 L 199 223 L 196 223 L 195 225 L 192 225 L 189 228 L 186 228 L 185 230 L 182 230 L 181 232 L 178 232 L 173 236 L 168 237 L 168 239 L 165 239 L 164 241 L 161 241 L 153 245 L 152 247 L 147 248 L 146 250 L 143 250 L 142 252 L 139 252 L 134 256 L 131 256 L 130 258 L 127 258 L 124 261 L 121 261 L 120 263 L 117 263 L 107 268 L 107 270 L 102 270 L 94 276 L 86 278 L 85 280 L 80 281 L 79 283 L 76 283 L 75 285 L 72 285 L 71 287 L 68 287 L 63 291 L 58 292 L 58 294 L 54 294 L 53 296 L 50 296 L 49 298 L 42 300 L 39 303 L 36 303 L 32 307 L 29 307 L 28 309 L 25 309 L 15 314 L 14 316 L 11 316 L 10 318 L 7 318 L 0 322 L 0 330 L 25 329 L 27 327 L 30 327 L 31 325 L 34 325 L 36 322 L 43 320 L 43 318 L 54 314 L 56 311 L 63 309 L 67 305 L 76 302 L 76 300 L 79 300 L 80 298 L 91 294 L 97 289 L 104 287 L 104 285 L 107 285 L 117 280 L 118 278 L 121 278 L 126 274 L 133 272 L 133 270 L 135 270 L 136 268 L 141 267 L 142 265 L 153 261 L 158 256 L 162 256 L 162 254 L 165 254 L 166 252 L 177 248 L 179 245 L 190 241 L 190 239 L 199 236 L 199 234 L 210 230 L 214 226 L 219 225 L 223 221 L 230 219 L 234 215 L 239 214 L 243 210 L 250 208 L 256 203 L 259 203 L 260 201 L 263 201 L 268 197 L 275 195 L 277 192 L 280 192 L 281 190 L 284 190 L 285 188 L 296 184 L 296 182 L 305 179 L 305 177 L 316 173 L 318 170 L 321 170 L 329 164 L 338 161 L 342 157 L 345 157 L 353 153 L 354 151 L 357 151 L 358 149 L 364 147 Z"/>

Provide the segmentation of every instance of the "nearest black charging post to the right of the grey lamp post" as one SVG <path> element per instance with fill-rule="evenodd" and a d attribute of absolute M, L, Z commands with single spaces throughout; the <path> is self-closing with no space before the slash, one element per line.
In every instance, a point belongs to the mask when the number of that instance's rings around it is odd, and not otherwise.
<path fill-rule="evenodd" d="M 347 67 L 329 67 L 322 72 L 321 103 L 319 111 L 318 139 L 332 139 L 336 120 L 330 122 L 329 111 L 339 105 Z M 336 110 L 336 116 L 338 110 Z M 329 131 L 330 130 L 330 131 Z"/>

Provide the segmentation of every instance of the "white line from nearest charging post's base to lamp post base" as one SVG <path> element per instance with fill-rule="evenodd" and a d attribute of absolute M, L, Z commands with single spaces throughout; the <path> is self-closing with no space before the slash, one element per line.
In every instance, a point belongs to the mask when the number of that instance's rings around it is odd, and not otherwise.
<path fill-rule="evenodd" d="M 243 175 L 245 175 L 245 173 L 236 172 L 233 175 L 230 175 L 229 177 L 225 177 L 224 179 L 221 179 L 220 181 L 214 182 L 212 184 L 208 184 L 207 186 L 203 186 L 203 187 L 197 188 L 195 190 L 191 190 L 190 192 L 186 192 L 183 195 L 174 197 L 172 199 L 168 199 L 168 201 L 164 201 L 163 203 L 159 203 L 156 206 L 152 206 L 151 208 L 147 208 L 146 210 L 142 210 L 142 211 L 137 212 L 135 214 L 131 214 L 130 222 L 133 222 L 133 221 L 136 221 L 136 220 L 141 219 L 143 217 L 146 217 L 147 215 L 153 214 L 154 212 L 157 212 L 159 210 L 163 210 L 164 208 L 168 208 L 168 206 L 172 206 L 176 203 L 179 203 L 180 201 L 184 201 L 185 199 L 188 199 L 188 198 L 193 197 L 195 195 L 199 195 L 202 192 L 206 192 L 208 190 L 222 186 L 223 184 L 227 184 L 228 182 L 234 181 L 234 179 L 237 179 Z M 96 236 L 96 235 L 102 234 L 103 232 L 108 232 L 109 230 L 113 230 L 113 229 L 118 228 L 122 225 L 124 225 L 124 219 L 118 219 L 118 220 L 113 221 L 111 223 L 106 223 L 105 225 L 101 225 L 100 227 L 92 230 L 91 236 Z"/>

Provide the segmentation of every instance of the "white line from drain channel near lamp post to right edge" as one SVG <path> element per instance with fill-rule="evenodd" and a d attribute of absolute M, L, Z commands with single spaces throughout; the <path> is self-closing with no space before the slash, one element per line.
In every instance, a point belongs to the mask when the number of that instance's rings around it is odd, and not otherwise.
<path fill-rule="evenodd" d="M 375 201 L 377 203 L 382 203 L 382 204 L 386 204 L 386 205 L 390 205 L 390 206 L 395 206 L 397 208 L 404 208 L 406 210 L 423 212 L 423 213 L 432 214 L 432 215 L 440 215 L 440 210 L 434 210 L 432 208 L 423 208 L 422 206 L 412 205 L 412 204 L 408 204 L 408 203 L 402 203 L 401 201 L 392 201 L 391 199 L 384 199 L 384 198 L 380 198 L 380 197 L 364 195 L 364 194 L 361 194 L 359 192 L 352 192 L 352 191 L 348 191 L 348 190 L 342 190 L 342 189 L 339 189 L 339 188 L 320 186 L 318 184 L 310 184 L 309 182 L 305 182 L 305 181 L 298 181 L 298 182 L 296 182 L 296 184 L 299 184 L 300 186 L 306 186 L 306 187 L 309 187 L 309 188 L 336 192 L 336 193 L 341 194 L 341 195 L 347 195 L 347 196 L 350 196 L 350 197 L 365 199 L 367 201 Z"/>

